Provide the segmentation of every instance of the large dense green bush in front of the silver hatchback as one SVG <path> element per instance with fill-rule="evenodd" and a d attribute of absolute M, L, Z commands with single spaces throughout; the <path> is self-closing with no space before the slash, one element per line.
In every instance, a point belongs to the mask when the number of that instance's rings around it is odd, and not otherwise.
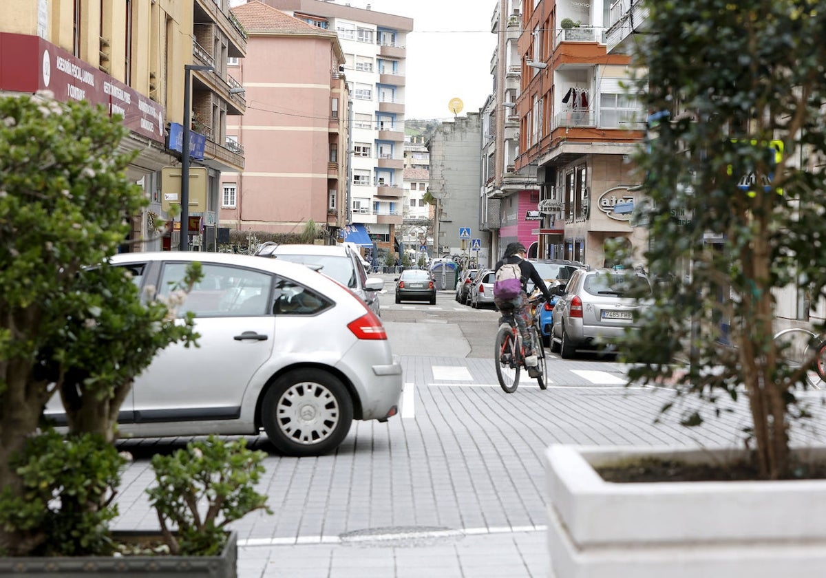
<path fill-rule="evenodd" d="M 155 353 L 197 336 L 107 264 L 147 202 L 126 177 L 122 119 L 48 94 L 0 98 L 0 119 L 2 566 L 109 556 L 118 410 Z M 51 396 L 67 434 L 45 427 Z"/>

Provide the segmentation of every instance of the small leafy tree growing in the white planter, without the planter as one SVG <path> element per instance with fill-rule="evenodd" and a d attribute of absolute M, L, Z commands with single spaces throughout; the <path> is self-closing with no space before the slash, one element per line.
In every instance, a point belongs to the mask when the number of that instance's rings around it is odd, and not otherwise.
<path fill-rule="evenodd" d="M 637 86 L 654 122 L 637 161 L 657 291 L 624 349 L 632 360 L 665 350 L 692 362 L 685 375 L 649 363 L 629 377 L 672 380 L 678 395 L 710 401 L 737 399 L 744 385 L 759 476 L 792 477 L 790 424 L 807 415 L 795 395 L 806 367 L 782 362 L 772 336 L 776 290 L 800 285 L 817 302 L 826 285 L 826 175 L 817 168 L 826 156 L 826 47 L 806 40 L 824 30 L 826 11 L 806 0 L 646 5 L 650 34 L 636 59 L 647 73 Z M 685 423 L 702 419 L 692 413 Z"/>

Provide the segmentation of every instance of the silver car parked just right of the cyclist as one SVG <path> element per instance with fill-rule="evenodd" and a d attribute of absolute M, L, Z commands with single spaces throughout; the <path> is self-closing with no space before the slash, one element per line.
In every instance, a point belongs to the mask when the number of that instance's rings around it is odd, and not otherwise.
<path fill-rule="evenodd" d="M 627 269 L 577 269 L 553 307 L 551 351 L 572 358 L 577 349 L 611 347 L 611 339 L 636 327 L 645 301 L 629 295 L 651 294 L 644 275 Z"/>

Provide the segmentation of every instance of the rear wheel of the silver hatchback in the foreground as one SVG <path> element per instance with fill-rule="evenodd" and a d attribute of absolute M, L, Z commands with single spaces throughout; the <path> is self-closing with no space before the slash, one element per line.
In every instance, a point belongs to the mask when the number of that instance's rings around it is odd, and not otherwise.
<path fill-rule="evenodd" d="M 269 387 L 261 404 L 261 422 L 278 452 L 320 456 L 347 437 L 353 424 L 353 400 L 332 374 L 297 369 Z"/>

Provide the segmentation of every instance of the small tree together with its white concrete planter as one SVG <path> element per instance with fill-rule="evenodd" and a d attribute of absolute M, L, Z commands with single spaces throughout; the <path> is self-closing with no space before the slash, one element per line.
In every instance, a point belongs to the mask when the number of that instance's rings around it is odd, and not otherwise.
<path fill-rule="evenodd" d="M 819 576 L 826 533 L 804 520 L 826 490 L 826 455 L 791 443 L 811 416 L 800 396 L 807 363 L 784 362 L 772 338 L 781 288 L 799 287 L 814 304 L 824 298 L 826 178 L 816 167 L 826 154 L 826 50 L 803 39 L 823 29 L 826 14 L 768 0 L 644 8 L 635 96 L 650 115 L 649 138 L 636 161 L 648 202 L 637 197 L 635 210 L 645 207 L 644 267 L 656 289 L 643 329 L 620 348 L 637 363 L 630 381 L 676 390 L 663 410 L 686 407 L 686 396 L 707 402 L 681 415 L 686 427 L 725 411 L 724 400 L 748 404 L 752 423 L 725 452 L 551 448 L 554 571 Z M 709 42 L 706 29 L 743 34 Z M 619 258 L 639 263 L 639 255 Z M 823 324 L 814 330 L 823 334 Z M 675 357 L 690 363 L 664 361 Z M 611 465 L 630 483 L 597 473 Z M 743 471 L 746 481 L 661 481 L 700 467 L 714 476 Z"/>

